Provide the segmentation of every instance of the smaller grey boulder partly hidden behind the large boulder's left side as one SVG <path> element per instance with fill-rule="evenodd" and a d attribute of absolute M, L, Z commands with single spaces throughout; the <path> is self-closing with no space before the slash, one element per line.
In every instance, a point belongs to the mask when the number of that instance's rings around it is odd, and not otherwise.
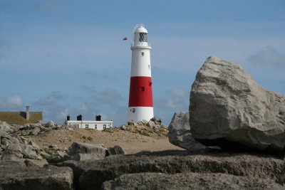
<path fill-rule="evenodd" d="M 189 112 L 175 112 L 168 126 L 168 139 L 178 147 L 196 151 L 205 149 L 203 144 L 197 142 L 190 132 Z"/>

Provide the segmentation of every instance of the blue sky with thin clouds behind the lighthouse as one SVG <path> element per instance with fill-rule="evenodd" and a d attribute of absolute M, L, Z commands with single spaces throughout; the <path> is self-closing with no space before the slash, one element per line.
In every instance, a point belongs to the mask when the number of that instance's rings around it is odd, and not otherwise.
<path fill-rule="evenodd" d="M 149 33 L 154 113 L 164 125 L 188 111 L 209 56 L 284 94 L 284 10 L 283 0 L 0 0 L 0 110 L 29 105 L 43 122 L 81 114 L 123 125 L 138 23 Z"/>

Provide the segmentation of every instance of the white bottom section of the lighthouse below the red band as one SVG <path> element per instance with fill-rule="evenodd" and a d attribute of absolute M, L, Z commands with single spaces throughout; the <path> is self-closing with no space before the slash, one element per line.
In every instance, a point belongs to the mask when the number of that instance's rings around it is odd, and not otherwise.
<path fill-rule="evenodd" d="M 149 121 L 153 117 L 153 107 L 129 107 L 128 120 Z"/>

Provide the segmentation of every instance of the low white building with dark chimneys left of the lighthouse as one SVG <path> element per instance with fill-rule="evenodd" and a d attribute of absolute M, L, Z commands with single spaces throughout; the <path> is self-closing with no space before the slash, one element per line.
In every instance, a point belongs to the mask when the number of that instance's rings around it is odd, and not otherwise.
<path fill-rule="evenodd" d="M 113 127 L 113 121 L 101 121 L 101 116 L 97 115 L 95 121 L 82 120 L 82 115 L 77 116 L 77 120 L 70 120 L 66 117 L 66 125 L 73 125 L 79 129 L 105 130 Z"/>

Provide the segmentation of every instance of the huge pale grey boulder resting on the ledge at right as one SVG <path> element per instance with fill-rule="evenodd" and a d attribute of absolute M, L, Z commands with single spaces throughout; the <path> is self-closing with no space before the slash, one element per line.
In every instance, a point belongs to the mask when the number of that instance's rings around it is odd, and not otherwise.
<path fill-rule="evenodd" d="M 192 85 L 190 126 L 207 146 L 282 152 L 285 95 L 264 90 L 239 65 L 209 57 Z"/>

